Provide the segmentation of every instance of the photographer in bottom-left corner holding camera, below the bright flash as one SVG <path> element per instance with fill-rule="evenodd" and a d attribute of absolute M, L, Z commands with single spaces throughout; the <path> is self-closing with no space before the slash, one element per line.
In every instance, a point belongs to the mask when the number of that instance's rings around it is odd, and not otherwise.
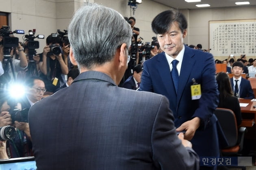
<path fill-rule="evenodd" d="M 0 94 L 0 125 L 13 125 L 16 130 L 15 137 L 6 142 L 9 158 L 33 156 L 29 125 L 20 119 L 27 119 L 28 110 L 20 110 L 21 104 L 10 98 L 7 92 Z"/>

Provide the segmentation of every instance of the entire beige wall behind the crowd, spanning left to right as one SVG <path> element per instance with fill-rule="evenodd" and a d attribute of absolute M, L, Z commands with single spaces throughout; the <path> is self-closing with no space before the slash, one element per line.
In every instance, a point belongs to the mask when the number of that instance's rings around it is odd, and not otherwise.
<path fill-rule="evenodd" d="M 117 10 L 121 15 L 133 16 L 128 0 L 0 0 L 0 11 L 10 13 L 11 30 L 36 29 L 36 34 L 44 34 L 46 37 L 57 29 L 67 29 L 74 12 L 83 3 L 98 3 Z M 170 9 L 163 4 L 151 0 L 143 0 L 135 10 L 136 27 L 140 29 L 143 42 L 151 42 L 152 19 L 161 11 Z M 233 7 L 233 8 L 207 8 L 181 10 L 188 20 L 188 36 L 184 43 L 197 45 L 202 44 L 203 49 L 209 47 L 208 21 L 230 19 L 256 19 L 256 6 Z M 111 23 L 110 23 L 111 24 Z M 22 41 L 22 35 L 15 34 Z M 36 39 L 39 40 L 39 39 Z M 39 40 L 41 53 L 46 40 Z M 217 57 L 218 58 L 218 57 Z M 221 57 L 220 59 L 225 58 Z M 253 57 L 256 58 L 256 57 Z"/>

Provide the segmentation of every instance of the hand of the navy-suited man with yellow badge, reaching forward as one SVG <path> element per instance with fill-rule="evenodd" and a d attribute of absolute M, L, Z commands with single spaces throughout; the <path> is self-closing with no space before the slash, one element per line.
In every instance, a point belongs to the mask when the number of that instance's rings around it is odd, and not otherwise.
<path fill-rule="evenodd" d="M 182 125 L 180 125 L 180 127 L 178 127 L 176 131 L 185 130 L 186 133 L 184 134 L 184 139 L 191 140 L 194 137 L 195 131 L 198 129 L 199 126 L 200 126 L 200 118 L 195 117 L 190 121 L 186 121 L 182 123 Z"/>

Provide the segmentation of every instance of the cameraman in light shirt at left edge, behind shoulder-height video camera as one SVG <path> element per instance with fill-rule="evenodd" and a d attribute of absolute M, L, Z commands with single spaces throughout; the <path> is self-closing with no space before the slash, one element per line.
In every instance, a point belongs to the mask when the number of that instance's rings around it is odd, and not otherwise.
<path fill-rule="evenodd" d="M 24 31 L 10 31 L 9 26 L 2 26 L 0 29 L 1 88 L 6 88 L 8 83 L 14 82 L 17 72 L 24 70 L 28 66 L 23 47 L 19 43 L 19 38 L 13 36 L 14 33 L 24 34 Z M 16 48 L 19 53 L 19 59 L 15 59 L 15 55 L 13 55 L 13 50 Z"/>

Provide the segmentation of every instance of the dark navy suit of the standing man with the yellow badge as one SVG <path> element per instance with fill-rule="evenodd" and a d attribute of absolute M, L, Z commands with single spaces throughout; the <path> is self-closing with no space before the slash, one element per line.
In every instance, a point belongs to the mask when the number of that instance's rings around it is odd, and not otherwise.
<path fill-rule="evenodd" d="M 165 53 L 143 63 L 139 90 L 166 96 L 174 113 L 176 127 L 200 117 L 202 124 L 191 140 L 193 149 L 200 156 L 219 155 L 217 118 L 213 115 L 219 101 L 215 70 L 212 54 L 185 46 L 176 94 Z M 191 100 L 192 79 L 201 85 L 202 96 L 199 100 Z"/>

